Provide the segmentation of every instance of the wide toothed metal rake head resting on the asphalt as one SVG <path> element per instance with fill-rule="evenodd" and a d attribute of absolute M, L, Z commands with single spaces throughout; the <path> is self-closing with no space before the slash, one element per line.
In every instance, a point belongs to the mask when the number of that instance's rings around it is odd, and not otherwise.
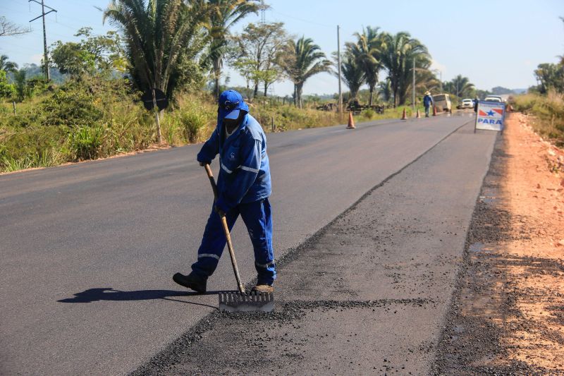
<path fill-rule="evenodd" d="M 219 293 L 221 312 L 271 312 L 274 310 L 274 294 L 251 291 L 222 291 Z"/>

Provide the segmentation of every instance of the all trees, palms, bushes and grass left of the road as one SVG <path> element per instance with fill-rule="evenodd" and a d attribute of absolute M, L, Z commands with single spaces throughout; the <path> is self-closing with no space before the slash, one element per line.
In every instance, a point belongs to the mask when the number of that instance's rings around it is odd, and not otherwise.
<path fill-rule="evenodd" d="M 346 123 L 336 98 L 302 95 L 309 78 L 334 70 L 311 38 L 295 40 L 283 23 L 250 23 L 231 33 L 264 8 L 257 0 L 111 0 L 100 10 L 116 31 L 93 35 L 81 28 L 75 37 L 82 40 L 51 44 L 47 60 L 56 74 L 50 82 L 37 76 L 44 67 L 18 69 L 0 56 L 0 172 L 205 140 L 216 125 L 216 98 L 228 87 L 224 64 L 247 80 L 236 89 L 266 131 Z M 401 116 L 410 104 L 414 62 L 419 100 L 438 87 L 427 47 L 409 33 L 367 27 L 353 37 L 343 54 L 350 87 L 343 99 L 395 107 L 384 116 L 365 109 L 357 121 Z M 381 73 L 387 77 L 379 82 Z M 267 96 L 278 80 L 293 82 L 292 97 Z M 154 112 L 139 100 L 153 87 L 170 103 L 159 130 Z M 316 109 L 322 105 L 329 111 Z"/>

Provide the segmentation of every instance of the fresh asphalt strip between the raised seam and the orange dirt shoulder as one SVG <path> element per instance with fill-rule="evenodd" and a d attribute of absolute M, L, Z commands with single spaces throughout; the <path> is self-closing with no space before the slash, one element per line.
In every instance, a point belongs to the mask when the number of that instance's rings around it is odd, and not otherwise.
<path fill-rule="evenodd" d="M 133 375 L 429 373 L 494 139 L 452 133 L 278 263 L 273 313 L 216 311 Z"/>

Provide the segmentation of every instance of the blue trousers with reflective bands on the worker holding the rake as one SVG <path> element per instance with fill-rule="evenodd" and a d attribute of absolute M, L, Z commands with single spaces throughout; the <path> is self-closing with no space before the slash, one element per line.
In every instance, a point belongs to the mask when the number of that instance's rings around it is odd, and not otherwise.
<path fill-rule="evenodd" d="M 255 250 L 257 284 L 271 285 L 276 279 L 276 267 L 272 249 L 272 217 L 269 200 L 265 198 L 247 204 L 239 204 L 229 210 L 226 213 L 229 231 L 233 229 L 239 214 L 247 226 L 252 247 Z M 207 220 L 202 244 L 198 249 L 198 260 L 192 264 L 192 270 L 202 277 L 211 276 L 217 267 L 226 242 L 219 214 L 212 210 Z"/>

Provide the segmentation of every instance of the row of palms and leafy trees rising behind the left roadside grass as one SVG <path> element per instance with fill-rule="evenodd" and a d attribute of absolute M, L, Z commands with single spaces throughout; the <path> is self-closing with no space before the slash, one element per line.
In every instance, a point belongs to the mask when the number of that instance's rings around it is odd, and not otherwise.
<path fill-rule="evenodd" d="M 77 80 L 85 75 L 127 74 L 138 90 L 157 87 L 169 98 L 179 90 L 201 90 L 207 81 L 212 81 L 218 97 L 228 65 L 243 76 L 254 97 L 266 96 L 278 80 L 291 80 L 294 104 L 302 107 L 307 80 L 321 72 L 336 73 L 337 56 L 333 53 L 328 59 L 311 38 L 290 35 L 283 23 L 249 23 L 242 32 L 231 32 L 233 25 L 265 7 L 257 0 L 112 0 L 100 10 L 104 23 L 119 32 L 92 35 L 92 29 L 82 28 L 75 34 L 82 37 L 80 42 L 51 45 L 49 60 Z M 430 70 L 427 47 L 408 32 L 391 34 L 367 27 L 353 37 L 341 54 L 349 100 L 357 99 L 367 85 L 370 105 L 374 94 L 394 107 L 403 105 L 410 100 L 414 70 L 419 94 L 427 90 L 459 97 L 475 94 L 474 85 L 461 75 L 441 83 Z M 7 56 L 2 63 L 0 70 L 16 72 L 13 63 L 6 65 Z"/>

